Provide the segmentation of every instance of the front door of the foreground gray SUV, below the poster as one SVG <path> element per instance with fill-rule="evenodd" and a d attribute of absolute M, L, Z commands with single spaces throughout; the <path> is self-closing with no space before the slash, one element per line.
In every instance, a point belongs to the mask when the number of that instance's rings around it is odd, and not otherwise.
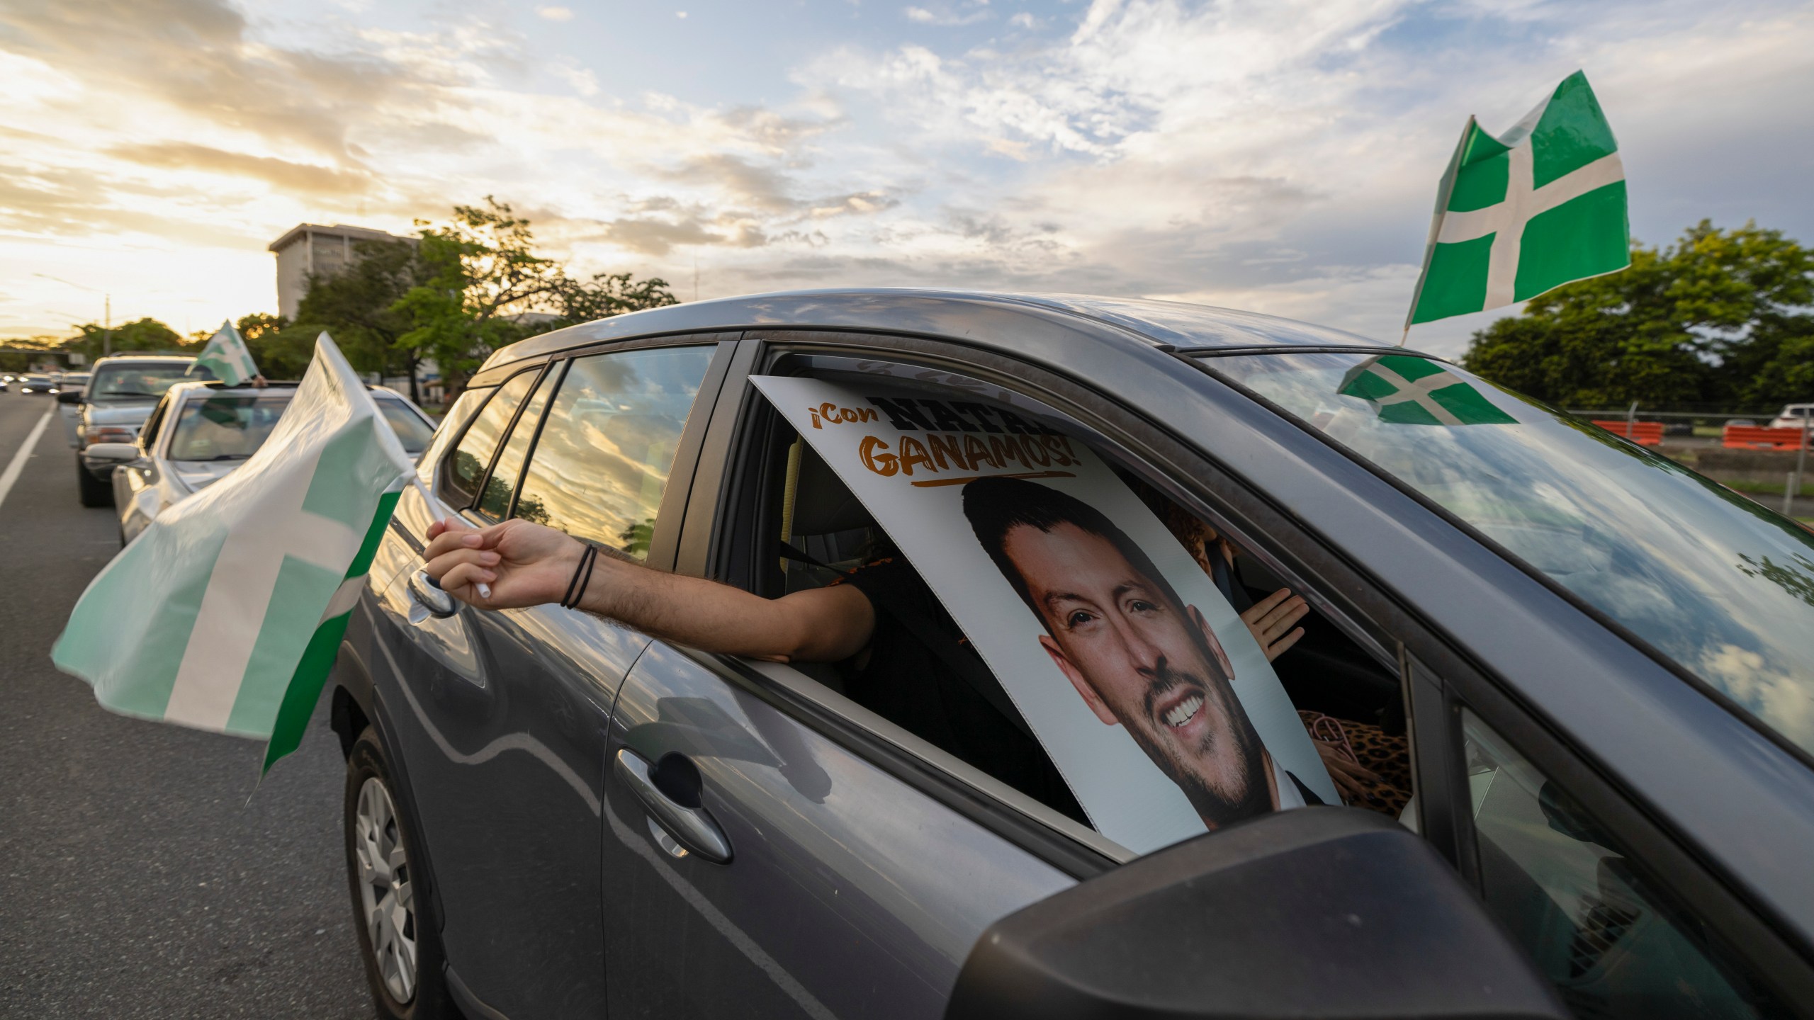
<path fill-rule="evenodd" d="M 785 457 L 756 401 L 744 383 L 718 401 L 684 572 L 742 583 L 738 550 L 773 555 L 751 492 Z M 811 670 L 657 641 L 626 677 L 604 799 L 613 1016 L 940 1016 L 983 927 L 1125 855 Z"/>

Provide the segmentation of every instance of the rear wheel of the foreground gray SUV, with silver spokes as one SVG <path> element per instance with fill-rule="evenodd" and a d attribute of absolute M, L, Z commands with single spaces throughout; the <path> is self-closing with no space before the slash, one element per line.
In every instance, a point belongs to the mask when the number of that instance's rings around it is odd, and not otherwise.
<path fill-rule="evenodd" d="M 383 1020 L 459 1020 L 461 1015 L 448 998 L 441 924 L 434 917 L 430 882 L 415 866 L 421 860 L 421 842 L 415 839 L 415 824 L 403 813 L 390 775 L 377 731 L 366 726 L 346 755 L 341 817 L 346 884 L 352 891 L 365 984 Z M 390 866 L 366 868 L 366 858 Z M 403 904 L 397 902 L 397 889 L 406 889 Z M 410 946 L 414 966 L 408 964 Z"/>

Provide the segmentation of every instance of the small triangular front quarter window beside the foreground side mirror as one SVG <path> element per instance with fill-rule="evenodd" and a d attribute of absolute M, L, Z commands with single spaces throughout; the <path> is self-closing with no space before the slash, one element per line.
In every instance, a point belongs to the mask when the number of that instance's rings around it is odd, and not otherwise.
<path fill-rule="evenodd" d="M 1468 790 L 1487 907 L 1576 1016 L 1787 1016 L 1749 967 L 1471 711 Z"/>

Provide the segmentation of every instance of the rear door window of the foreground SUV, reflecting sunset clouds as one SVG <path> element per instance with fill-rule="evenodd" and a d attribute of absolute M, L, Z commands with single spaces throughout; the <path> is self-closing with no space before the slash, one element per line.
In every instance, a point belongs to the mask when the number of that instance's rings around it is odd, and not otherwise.
<path fill-rule="evenodd" d="M 713 347 L 575 358 L 522 474 L 515 515 L 642 559 Z"/>

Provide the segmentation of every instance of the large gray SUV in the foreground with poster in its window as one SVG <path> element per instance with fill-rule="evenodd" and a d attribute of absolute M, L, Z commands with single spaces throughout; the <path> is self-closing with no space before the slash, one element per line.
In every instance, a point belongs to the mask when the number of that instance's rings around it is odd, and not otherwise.
<path fill-rule="evenodd" d="M 751 376 L 1012 403 L 1214 525 L 1234 584 L 1313 606 L 1273 664 L 1295 708 L 1400 733 L 1409 806 L 1137 855 L 842 664 L 428 581 L 461 515 L 758 595 L 824 583 L 800 561 L 842 568 L 876 523 Z M 1455 365 L 1154 301 L 771 294 L 495 352 L 421 472 L 330 684 L 383 1016 L 1814 1004 L 1814 534 Z"/>

